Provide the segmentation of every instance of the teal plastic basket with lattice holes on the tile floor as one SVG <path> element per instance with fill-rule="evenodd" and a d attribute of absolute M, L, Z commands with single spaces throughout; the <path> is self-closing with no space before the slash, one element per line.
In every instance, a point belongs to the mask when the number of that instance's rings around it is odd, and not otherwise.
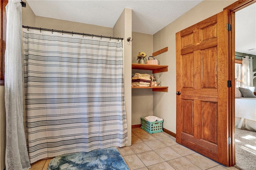
<path fill-rule="evenodd" d="M 141 128 L 146 130 L 148 133 L 157 133 L 163 131 L 163 122 L 164 121 L 155 121 L 155 122 L 149 122 L 144 119 L 144 117 L 141 118 Z"/>

